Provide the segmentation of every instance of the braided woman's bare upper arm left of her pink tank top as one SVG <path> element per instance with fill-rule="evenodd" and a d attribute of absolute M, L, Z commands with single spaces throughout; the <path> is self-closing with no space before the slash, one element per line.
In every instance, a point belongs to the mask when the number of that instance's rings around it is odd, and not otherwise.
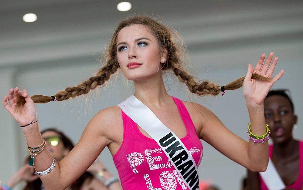
<path fill-rule="evenodd" d="M 58 163 L 61 183 L 66 188 L 81 176 L 97 159 L 102 150 L 111 143 L 111 108 L 98 112 L 87 124 L 76 146 Z"/>

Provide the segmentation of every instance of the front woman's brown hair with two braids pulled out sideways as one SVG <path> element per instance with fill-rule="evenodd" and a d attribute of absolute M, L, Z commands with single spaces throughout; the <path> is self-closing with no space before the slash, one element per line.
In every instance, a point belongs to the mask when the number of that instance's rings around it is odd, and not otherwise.
<path fill-rule="evenodd" d="M 65 90 L 58 91 L 54 95 L 56 100 L 68 100 L 71 97 L 74 98 L 82 94 L 87 94 L 90 92 L 90 90 L 95 89 L 97 86 L 104 85 L 111 78 L 112 74 L 114 74 L 119 68 L 117 59 L 118 34 L 122 28 L 132 24 L 145 25 L 157 39 L 159 48 L 167 49 L 168 59 L 162 64 L 161 70 L 173 70 L 179 81 L 185 83 L 191 93 L 195 93 L 198 96 L 216 96 L 221 92 L 221 87 L 218 84 L 209 81 L 196 82 L 195 78 L 182 67 L 184 61 L 182 61 L 180 58 L 186 54 L 187 48 L 183 45 L 182 39 L 178 32 L 166 27 L 150 17 L 134 16 L 122 21 L 116 28 L 106 52 L 105 66 L 100 68 L 95 76 L 83 81 L 81 84 L 78 84 L 75 87 L 67 87 Z M 174 36 L 179 40 L 178 43 L 173 41 Z M 242 87 L 244 78 L 245 77 L 239 78 L 225 85 L 225 90 L 235 90 Z M 261 81 L 270 80 L 270 78 L 266 78 L 258 74 L 252 74 L 252 78 Z M 53 100 L 52 97 L 43 95 L 33 95 L 31 98 L 34 103 L 47 103 Z M 19 97 L 17 105 L 21 106 L 24 103 L 24 97 Z"/>

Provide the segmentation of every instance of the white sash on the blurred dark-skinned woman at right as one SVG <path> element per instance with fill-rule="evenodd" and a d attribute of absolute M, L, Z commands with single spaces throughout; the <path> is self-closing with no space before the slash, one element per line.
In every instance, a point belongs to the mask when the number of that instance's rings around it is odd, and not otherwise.
<path fill-rule="evenodd" d="M 269 190 L 281 190 L 286 188 L 271 159 L 269 159 L 266 171 L 259 172 L 259 174 Z"/>

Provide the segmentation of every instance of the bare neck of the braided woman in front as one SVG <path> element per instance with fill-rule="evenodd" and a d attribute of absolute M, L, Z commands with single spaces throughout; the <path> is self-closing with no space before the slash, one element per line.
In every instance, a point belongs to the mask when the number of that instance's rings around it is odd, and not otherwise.
<path fill-rule="evenodd" d="M 146 106 L 160 107 L 170 102 L 171 97 L 165 89 L 161 73 L 159 72 L 144 81 L 134 81 L 135 97 Z"/>

